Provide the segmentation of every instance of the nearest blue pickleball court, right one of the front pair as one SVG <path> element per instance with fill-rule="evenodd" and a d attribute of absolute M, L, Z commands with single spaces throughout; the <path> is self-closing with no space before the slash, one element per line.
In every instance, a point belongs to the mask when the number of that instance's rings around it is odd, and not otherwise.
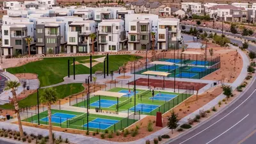
<path fill-rule="evenodd" d="M 88 127 L 93 129 L 108 129 L 112 125 L 118 123 L 119 120 L 109 120 L 105 118 L 96 118 L 88 123 Z M 87 124 L 84 124 L 83 127 L 87 127 Z"/>

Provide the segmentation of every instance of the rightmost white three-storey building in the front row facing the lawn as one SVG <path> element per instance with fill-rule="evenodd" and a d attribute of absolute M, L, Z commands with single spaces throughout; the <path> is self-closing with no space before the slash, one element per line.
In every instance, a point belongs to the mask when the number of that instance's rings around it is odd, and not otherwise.
<path fill-rule="evenodd" d="M 158 20 L 157 49 L 177 49 L 182 43 L 180 20 L 159 19 Z"/>

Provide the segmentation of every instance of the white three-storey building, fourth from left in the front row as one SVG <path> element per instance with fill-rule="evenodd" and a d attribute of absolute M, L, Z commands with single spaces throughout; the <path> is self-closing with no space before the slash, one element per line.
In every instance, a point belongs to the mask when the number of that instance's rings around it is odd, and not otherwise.
<path fill-rule="evenodd" d="M 102 20 L 98 28 L 98 51 L 120 51 L 125 49 L 127 38 L 124 30 L 124 20 Z"/>

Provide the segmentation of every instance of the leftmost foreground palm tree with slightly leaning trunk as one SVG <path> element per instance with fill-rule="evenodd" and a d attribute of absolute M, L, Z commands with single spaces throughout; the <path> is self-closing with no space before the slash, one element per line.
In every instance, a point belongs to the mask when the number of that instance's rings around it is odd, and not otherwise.
<path fill-rule="evenodd" d="M 21 124 L 21 120 L 20 120 L 20 108 L 19 108 L 19 104 L 17 102 L 16 92 L 15 92 L 19 86 L 20 86 L 20 83 L 18 81 L 6 81 L 4 90 L 5 91 L 12 90 L 11 91 L 12 95 L 13 95 L 12 100 L 13 100 L 13 104 L 14 104 L 14 108 L 15 108 L 15 113 L 17 113 L 20 137 L 23 137 L 24 133 L 23 133 L 22 124 Z"/>

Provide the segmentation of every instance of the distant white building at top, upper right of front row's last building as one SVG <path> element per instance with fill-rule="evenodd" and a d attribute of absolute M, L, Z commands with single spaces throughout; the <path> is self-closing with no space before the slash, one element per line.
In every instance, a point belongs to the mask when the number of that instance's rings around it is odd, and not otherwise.
<path fill-rule="evenodd" d="M 186 13 L 201 14 L 204 10 L 202 3 L 181 3 L 181 9 Z"/>

